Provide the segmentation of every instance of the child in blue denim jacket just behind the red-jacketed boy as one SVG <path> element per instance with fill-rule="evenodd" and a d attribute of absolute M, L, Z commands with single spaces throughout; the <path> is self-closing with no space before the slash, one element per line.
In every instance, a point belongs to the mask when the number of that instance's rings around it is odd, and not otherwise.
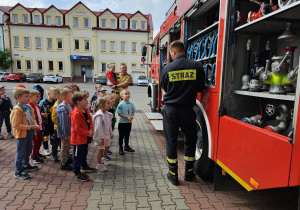
<path fill-rule="evenodd" d="M 72 171 L 73 167 L 70 164 L 73 163 L 70 159 L 71 148 L 71 118 L 70 113 L 72 107 L 70 106 L 72 89 L 63 88 L 60 92 L 60 96 L 63 102 L 58 105 L 55 112 L 57 113 L 57 138 L 61 141 L 61 170 Z"/>

